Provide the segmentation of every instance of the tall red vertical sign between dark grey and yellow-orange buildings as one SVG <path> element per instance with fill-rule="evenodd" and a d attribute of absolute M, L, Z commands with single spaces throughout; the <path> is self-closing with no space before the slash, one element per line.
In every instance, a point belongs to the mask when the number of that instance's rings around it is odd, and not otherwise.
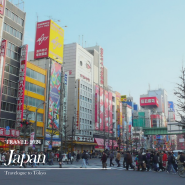
<path fill-rule="evenodd" d="M 17 101 L 17 113 L 16 113 L 17 126 L 20 125 L 20 121 L 22 121 L 23 119 L 27 57 L 28 57 L 28 45 L 26 44 L 21 47 L 18 98 L 17 98 L 18 101 Z"/>

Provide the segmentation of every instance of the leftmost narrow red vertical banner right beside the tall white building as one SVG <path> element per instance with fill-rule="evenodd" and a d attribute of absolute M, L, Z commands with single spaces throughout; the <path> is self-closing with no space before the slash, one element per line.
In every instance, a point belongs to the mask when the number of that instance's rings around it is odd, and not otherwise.
<path fill-rule="evenodd" d="M 95 85 L 95 130 L 100 129 L 100 87 Z"/>

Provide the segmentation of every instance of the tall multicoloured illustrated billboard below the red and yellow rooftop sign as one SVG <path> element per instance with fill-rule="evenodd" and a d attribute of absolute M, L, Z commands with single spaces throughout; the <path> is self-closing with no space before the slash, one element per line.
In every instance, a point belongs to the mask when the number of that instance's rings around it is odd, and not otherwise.
<path fill-rule="evenodd" d="M 51 61 L 50 94 L 49 94 L 49 121 L 48 127 L 59 128 L 59 108 L 60 108 L 60 84 L 61 84 L 61 65 Z M 55 116 L 56 115 L 56 116 Z M 52 120 L 54 122 L 52 123 Z"/>

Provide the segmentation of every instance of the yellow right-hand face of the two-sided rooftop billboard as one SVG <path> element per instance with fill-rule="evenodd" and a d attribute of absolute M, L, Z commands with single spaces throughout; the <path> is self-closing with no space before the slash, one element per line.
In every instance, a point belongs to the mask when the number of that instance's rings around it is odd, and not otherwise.
<path fill-rule="evenodd" d="M 64 30 L 51 20 L 49 36 L 49 57 L 63 63 Z"/>

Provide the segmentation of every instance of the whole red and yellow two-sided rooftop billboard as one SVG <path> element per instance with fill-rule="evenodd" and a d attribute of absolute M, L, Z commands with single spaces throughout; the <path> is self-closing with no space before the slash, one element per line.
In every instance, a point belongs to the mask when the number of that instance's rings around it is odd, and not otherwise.
<path fill-rule="evenodd" d="M 52 20 L 38 22 L 34 59 L 52 58 L 63 63 L 64 30 Z"/>

